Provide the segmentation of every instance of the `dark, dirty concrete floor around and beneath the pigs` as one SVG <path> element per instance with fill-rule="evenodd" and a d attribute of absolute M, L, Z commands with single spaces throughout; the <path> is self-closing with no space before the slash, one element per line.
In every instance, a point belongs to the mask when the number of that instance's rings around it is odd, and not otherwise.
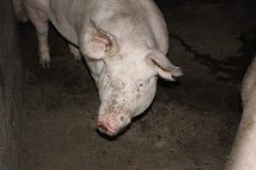
<path fill-rule="evenodd" d="M 256 22 L 239 4 L 161 5 L 178 82 L 159 82 L 153 105 L 117 139 L 96 133 L 96 88 L 50 29 L 52 63 L 38 64 L 35 32 L 19 26 L 26 69 L 23 170 L 220 170 L 241 116 L 240 83 L 256 51 Z"/>

